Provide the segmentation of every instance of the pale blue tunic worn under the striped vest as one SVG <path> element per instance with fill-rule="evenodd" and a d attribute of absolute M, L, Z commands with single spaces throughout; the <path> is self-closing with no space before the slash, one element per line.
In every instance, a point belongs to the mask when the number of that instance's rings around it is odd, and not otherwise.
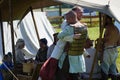
<path fill-rule="evenodd" d="M 79 23 L 79 24 L 80 24 L 79 25 L 80 27 L 86 29 L 86 27 L 84 25 L 82 25 L 81 23 Z M 67 26 L 60 34 L 58 34 L 58 38 L 72 43 L 74 41 L 73 35 L 74 35 L 74 27 Z M 87 35 L 86 35 L 86 37 L 87 37 Z M 82 55 L 83 52 L 78 52 L 78 53 L 81 55 L 74 55 L 74 56 L 68 55 L 69 64 L 70 64 L 69 73 L 79 73 L 79 72 L 86 71 L 85 60 L 84 60 L 84 56 Z M 60 68 L 62 68 L 62 64 L 63 64 L 64 58 L 65 58 L 65 55 L 66 54 L 62 54 L 62 56 L 59 59 L 59 67 Z"/>

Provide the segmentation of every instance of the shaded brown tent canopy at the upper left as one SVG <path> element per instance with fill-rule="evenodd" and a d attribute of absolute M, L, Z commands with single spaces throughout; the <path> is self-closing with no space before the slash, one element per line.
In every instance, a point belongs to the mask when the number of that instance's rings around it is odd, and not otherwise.
<path fill-rule="evenodd" d="M 29 7 L 37 9 L 60 4 L 54 0 L 1 0 L 0 11 L 3 21 L 10 21 L 10 2 L 14 20 L 20 20 Z"/>

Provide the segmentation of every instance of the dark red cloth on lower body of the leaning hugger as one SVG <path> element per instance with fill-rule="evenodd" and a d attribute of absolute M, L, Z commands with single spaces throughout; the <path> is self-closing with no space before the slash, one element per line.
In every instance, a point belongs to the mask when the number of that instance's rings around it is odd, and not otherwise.
<path fill-rule="evenodd" d="M 53 80 L 55 72 L 57 70 L 58 60 L 55 58 L 49 58 L 40 69 L 40 77 L 42 80 Z"/>

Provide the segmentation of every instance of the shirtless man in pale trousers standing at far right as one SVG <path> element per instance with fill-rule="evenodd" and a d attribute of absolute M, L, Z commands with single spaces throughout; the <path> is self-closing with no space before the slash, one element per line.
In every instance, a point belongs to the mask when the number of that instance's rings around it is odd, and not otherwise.
<path fill-rule="evenodd" d="M 108 80 L 108 74 L 112 75 L 112 80 L 116 80 L 116 59 L 118 56 L 117 43 L 119 40 L 119 31 L 114 26 L 112 18 L 105 17 L 105 34 L 104 34 L 104 52 L 101 63 L 102 80 Z"/>

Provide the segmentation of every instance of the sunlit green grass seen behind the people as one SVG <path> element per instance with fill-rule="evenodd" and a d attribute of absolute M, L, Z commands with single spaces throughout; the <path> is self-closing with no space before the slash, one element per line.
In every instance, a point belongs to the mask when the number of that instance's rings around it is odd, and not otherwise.
<path fill-rule="evenodd" d="M 60 28 L 55 28 L 56 32 L 61 31 Z M 96 40 L 97 38 L 99 38 L 99 27 L 90 27 L 88 28 L 88 35 L 90 37 L 90 39 L 92 40 Z M 118 48 L 118 58 L 116 61 L 117 64 L 117 69 L 120 72 L 120 48 Z"/>

